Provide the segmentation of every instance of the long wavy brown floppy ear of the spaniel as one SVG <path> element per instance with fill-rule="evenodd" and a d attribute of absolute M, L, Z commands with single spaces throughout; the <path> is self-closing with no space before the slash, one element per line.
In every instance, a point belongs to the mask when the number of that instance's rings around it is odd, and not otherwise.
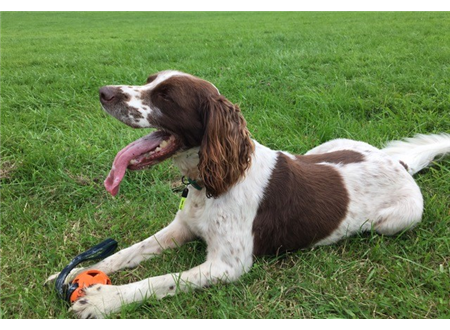
<path fill-rule="evenodd" d="M 207 196 L 217 198 L 245 176 L 255 146 L 237 105 L 221 95 L 211 96 L 203 111 L 198 168 Z"/>

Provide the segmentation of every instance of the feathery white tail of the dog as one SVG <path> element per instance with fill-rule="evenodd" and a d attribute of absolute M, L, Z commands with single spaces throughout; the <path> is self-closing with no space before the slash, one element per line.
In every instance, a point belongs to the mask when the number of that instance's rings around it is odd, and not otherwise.
<path fill-rule="evenodd" d="M 437 156 L 450 154 L 450 134 L 419 134 L 404 141 L 391 141 L 382 151 L 400 161 L 414 175 L 428 167 Z"/>

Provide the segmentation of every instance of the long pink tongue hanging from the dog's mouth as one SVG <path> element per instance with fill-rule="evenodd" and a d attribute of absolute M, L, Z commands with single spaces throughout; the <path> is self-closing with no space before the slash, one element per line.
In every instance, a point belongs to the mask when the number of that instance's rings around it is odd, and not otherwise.
<path fill-rule="evenodd" d="M 111 172 L 105 180 L 105 188 L 111 195 L 116 196 L 119 192 L 120 183 L 125 176 L 130 161 L 158 147 L 164 140 L 163 135 L 160 132 L 153 132 L 130 143 L 117 154 Z"/>

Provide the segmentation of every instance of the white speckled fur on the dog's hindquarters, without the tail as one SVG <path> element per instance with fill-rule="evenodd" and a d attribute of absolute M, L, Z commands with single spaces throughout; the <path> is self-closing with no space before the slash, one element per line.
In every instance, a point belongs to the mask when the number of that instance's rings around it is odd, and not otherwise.
<path fill-rule="evenodd" d="M 307 153 L 353 150 L 364 155 L 363 163 L 327 164 L 341 174 L 350 195 L 347 217 L 339 228 L 316 245 L 333 244 L 358 232 L 375 230 L 394 235 L 421 221 L 423 198 L 405 168 L 379 149 L 358 141 L 338 139 Z"/>

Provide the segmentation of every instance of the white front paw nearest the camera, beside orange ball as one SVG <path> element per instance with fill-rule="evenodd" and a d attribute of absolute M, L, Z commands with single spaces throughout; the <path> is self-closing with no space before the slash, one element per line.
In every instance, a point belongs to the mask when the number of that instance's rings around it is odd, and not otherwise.
<path fill-rule="evenodd" d="M 93 285 L 70 308 L 81 319 L 103 319 L 121 307 L 119 289 L 113 285 Z"/>

